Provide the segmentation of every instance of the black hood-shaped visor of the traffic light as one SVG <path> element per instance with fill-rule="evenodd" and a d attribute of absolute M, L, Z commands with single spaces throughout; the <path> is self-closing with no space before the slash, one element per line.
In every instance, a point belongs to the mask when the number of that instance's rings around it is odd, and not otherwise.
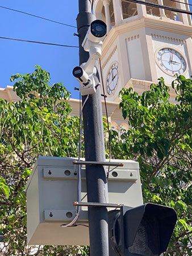
<path fill-rule="evenodd" d="M 159 256 L 166 251 L 177 221 L 174 209 L 148 203 L 123 215 L 125 255 Z"/>

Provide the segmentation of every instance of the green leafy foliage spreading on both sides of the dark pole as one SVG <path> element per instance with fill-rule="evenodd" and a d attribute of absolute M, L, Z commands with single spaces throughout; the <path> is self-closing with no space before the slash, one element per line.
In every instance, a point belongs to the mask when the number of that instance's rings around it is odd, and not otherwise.
<path fill-rule="evenodd" d="M 0 99 L 0 232 L 6 240 L 0 253 L 27 256 L 34 247 L 27 246 L 24 186 L 38 156 L 77 157 L 79 120 L 70 116 L 70 93 L 61 83 L 51 84 L 49 73 L 39 66 L 11 81 L 16 81 L 20 100 Z M 178 222 L 165 255 L 185 256 L 192 246 L 192 81 L 178 76 L 172 90 L 174 104 L 162 78 L 142 95 L 124 88 L 120 109 L 130 129 L 111 129 L 110 138 L 112 158 L 139 161 L 144 202 L 176 209 Z M 106 156 L 108 152 L 106 148 Z M 89 255 L 80 246 L 35 250 L 34 255 Z"/>

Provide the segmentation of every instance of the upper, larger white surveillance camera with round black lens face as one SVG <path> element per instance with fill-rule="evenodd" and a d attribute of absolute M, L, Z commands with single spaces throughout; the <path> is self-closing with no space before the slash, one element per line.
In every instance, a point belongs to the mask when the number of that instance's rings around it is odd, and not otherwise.
<path fill-rule="evenodd" d="M 91 47 L 102 46 L 102 41 L 105 39 L 107 33 L 107 26 L 102 20 L 96 19 L 91 22 L 89 30 L 82 42 L 82 47 L 85 51 L 89 51 Z"/>

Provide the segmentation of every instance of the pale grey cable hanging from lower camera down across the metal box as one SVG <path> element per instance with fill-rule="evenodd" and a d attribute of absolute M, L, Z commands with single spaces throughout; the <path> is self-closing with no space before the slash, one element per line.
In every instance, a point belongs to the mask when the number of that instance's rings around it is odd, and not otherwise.
<path fill-rule="evenodd" d="M 89 94 L 87 94 L 87 97 L 84 101 L 84 104 L 82 105 L 82 108 L 80 109 L 80 135 L 79 135 L 79 141 L 78 141 L 78 160 L 80 160 L 80 156 L 81 156 L 81 143 L 82 143 L 82 112 L 84 110 L 84 106 L 87 102 L 89 98 Z M 81 95 L 80 95 L 80 101 L 81 101 Z M 78 189 L 77 189 L 77 201 L 81 202 L 81 165 L 78 164 Z M 77 213 L 76 213 L 76 217 L 74 217 L 74 219 L 69 223 L 69 224 L 62 224 L 61 226 L 63 228 L 67 228 L 69 226 L 73 226 L 76 221 L 78 220 L 78 217 L 80 216 L 80 210 L 81 207 L 77 207 Z"/>

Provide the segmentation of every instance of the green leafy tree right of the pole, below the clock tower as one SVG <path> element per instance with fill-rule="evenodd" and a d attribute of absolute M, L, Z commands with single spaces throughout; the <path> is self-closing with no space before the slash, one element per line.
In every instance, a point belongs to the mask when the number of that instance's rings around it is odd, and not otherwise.
<path fill-rule="evenodd" d="M 172 82 L 176 104 L 169 101 L 164 79 L 141 96 L 120 92 L 128 131 L 111 131 L 112 157 L 139 161 L 144 202 L 173 207 L 178 214 L 165 255 L 191 255 L 192 249 L 192 80 Z"/>

